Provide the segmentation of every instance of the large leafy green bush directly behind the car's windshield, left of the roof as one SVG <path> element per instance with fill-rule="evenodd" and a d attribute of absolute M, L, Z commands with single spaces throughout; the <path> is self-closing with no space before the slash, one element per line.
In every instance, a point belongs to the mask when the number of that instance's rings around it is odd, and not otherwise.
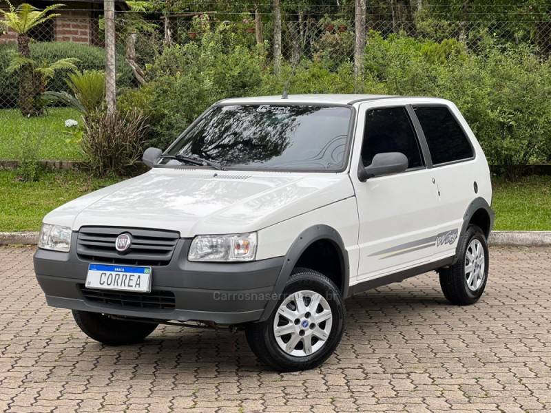
<path fill-rule="evenodd" d="M 148 116 L 154 146 L 169 145 L 216 100 L 256 94 L 262 83 L 262 54 L 228 25 L 205 30 L 197 42 L 166 47 L 147 67 L 149 83 L 119 99 L 121 109 Z"/>

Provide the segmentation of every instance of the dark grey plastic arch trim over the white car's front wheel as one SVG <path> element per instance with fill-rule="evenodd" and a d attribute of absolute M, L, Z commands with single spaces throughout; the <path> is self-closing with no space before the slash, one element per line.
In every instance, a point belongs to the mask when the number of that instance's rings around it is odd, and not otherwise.
<path fill-rule="evenodd" d="M 280 275 L 278 276 L 278 279 L 275 282 L 275 286 L 273 287 L 271 299 L 268 301 L 266 307 L 264 308 L 264 312 L 262 313 L 262 316 L 258 321 L 265 321 L 270 317 L 273 309 L 275 308 L 275 304 L 277 304 L 278 300 L 280 299 L 281 293 L 283 293 L 285 284 L 287 284 L 289 277 L 291 277 L 293 268 L 295 268 L 295 265 L 300 259 L 300 256 L 302 255 L 302 253 L 304 253 L 304 251 L 306 251 L 306 248 L 319 240 L 328 240 L 337 248 L 340 257 L 340 267 L 342 271 L 342 285 L 337 287 L 340 288 L 342 297 L 348 297 L 350 264 L 349 255 L 346 252 L 346 248 L 344 248 L 342 237 L 336 229 L 329 225 L 313 225 L 302 231 L 302 233 L 298 235 L 293 244 L 291 244 L 291 246 L 289 247 L 289 250 L 284 257 L 284 262 L 280 271 Z"/>

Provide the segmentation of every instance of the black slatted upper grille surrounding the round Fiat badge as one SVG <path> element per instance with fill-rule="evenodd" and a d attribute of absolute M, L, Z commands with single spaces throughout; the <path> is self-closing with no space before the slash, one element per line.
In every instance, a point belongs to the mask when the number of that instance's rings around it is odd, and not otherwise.
<path fill-rule="evenodd" d="M 125 253 L 115 249 L 116 237 L 121 233 L 132 235 L 132 246 Z M 82 260 L 105 264 L 163 266 L 170 262 L 179 237 L 175 231 L 83 226 L 76 253 Z"/>

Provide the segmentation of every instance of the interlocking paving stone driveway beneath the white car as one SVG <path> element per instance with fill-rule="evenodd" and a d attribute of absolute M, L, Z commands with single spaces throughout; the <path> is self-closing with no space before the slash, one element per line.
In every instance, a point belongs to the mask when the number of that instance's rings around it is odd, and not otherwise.
<path fill-rule="evenodd" d="M 357 295 L 336 354 L 293 374 L 264 370 L 242 333 L 101 346 L 45 306 L 32 252 L 0 248 L 0 411 L 551 412 L 550 248 L 493 248 L 475 306 L 447 304 L 435 273 Z"/>

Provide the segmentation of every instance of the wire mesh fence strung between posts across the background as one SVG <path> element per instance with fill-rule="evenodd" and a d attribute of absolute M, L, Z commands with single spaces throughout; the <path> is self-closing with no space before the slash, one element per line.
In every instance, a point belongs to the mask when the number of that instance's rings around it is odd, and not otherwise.
<path fill-rule="evenodd" d="M 52 19 L 28 33 L 31 39 L 30 57 L 34 69 L 52 65 L 59 59 L 79 59 L 80 70 L 104 70 L 104 21 L 100 11 L 90 13 L 74 10 Z M 220 20 L 206 14 L 165 14 L 153 17 L 119 12 L 116 16 L 116 82 L 119 88 L 138 87 L 147 77 L 146 67 L 167 45 L 200 43 L 202 36 L 214 25 L 227 25 L 241 38 L 242 45 L 262 47 L 267 62 L 273 60 L 274 30 L 271 16 L 257 24 L 251 18 L 236 14 L 233 20 Z M 93 17 L 90 17 L 92 15 Z M 86 17 L 85 17 L 86 16 Z M 136 17 L 143 17 L 136 19 Z M 237 18 L 238 17 L 238 18 Z M 526 44 L 542 57 L 551 54 L 551 21 L 450 21 L 446 19 L 391 18 L 388 14 L 368 14 L 367 45 L 371 31 L 380 36 L 409 36 L 419 40 L 443 41 L 457 39 L 472 53 L 480 52 L 483 34 L 495 39 L 495 44 Z M 335 64 L 353 62 L 355 31 L 353 16 L 331 17 L 285 16 L 282 21 L 281 56 L 284 61 L 301 59 L 331 59 Z M 0 108 L 18 105 L 19 78 L 10 64 L 17 52 L 17 34 L 0 25 Z M 43 90 L 67 90 L 67 71 L 57 70 L 39 76 L 37 87 Z"/>

